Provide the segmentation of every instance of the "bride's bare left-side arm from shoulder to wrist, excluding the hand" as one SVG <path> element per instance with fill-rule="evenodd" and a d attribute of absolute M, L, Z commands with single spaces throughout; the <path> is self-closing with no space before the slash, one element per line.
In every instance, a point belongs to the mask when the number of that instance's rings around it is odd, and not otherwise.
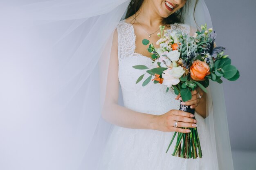
<path fill-rule="evenodd" d="M 118 105 L 119 79 L 117 56 L 117 30 L 114 32 L 110 53 L 106 97 L 102 117 L 106 121 L 124 128 L 152 129 L 154 115 L 135 112 Z"/>

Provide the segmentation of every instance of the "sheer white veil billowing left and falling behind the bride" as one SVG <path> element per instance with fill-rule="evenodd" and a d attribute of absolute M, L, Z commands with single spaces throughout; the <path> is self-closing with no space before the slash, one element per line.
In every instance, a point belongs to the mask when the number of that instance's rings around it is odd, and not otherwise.
<path fill-rule="evenodd" d="M 130 0 L 0 3 L 0 169 L 96 170 L 113 126 L 101 117 L 112 36 Z M 187 3 L 191 30 L 212 27 L 203 0 L 195 20 Z M 216 169 L 233 170 L 222 85 L 207 89 Z"/>

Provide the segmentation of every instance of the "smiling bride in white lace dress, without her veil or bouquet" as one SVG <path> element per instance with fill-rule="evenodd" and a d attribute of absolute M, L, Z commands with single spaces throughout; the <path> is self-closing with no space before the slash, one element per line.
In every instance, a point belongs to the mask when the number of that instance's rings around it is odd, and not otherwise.
<path fill-rule="evenodd" d="M 117 126 L 103 152 L 102 170 L 217 169 L 216 159 L 207 144 L 209 132 L 203 120 L 207 94 L 198 88 L 192 92 L 191 100 L 184 102 L 184 105 L 195 108 L 195 115 L 180 111 L 180 95 L 176 96 L 172 89 L 166 93 L 166 87 L 159 83 L 145 87 L 141 83 L 135 84 L 137 75 L 143 74 L 143 70 L 132 68 L 133 65 L 154 67 L 148 57 L 150 53 L 141 41 L 146 38 L 158 47 L 155 42 L 159 39 L 159 25 L 165 25 L 166 31 L 182 30 L 193 36 L 191 30 L 195 29 L 182 24 L 182 16 L 177 13 L 186 1 L 134 0 L 128 7 L 126 19 L 121 20 L 115 29 L 108 71 L 108 80 L 111 81 L 107 84 L 102 116 Z M 124 107 L 118 105 L 119 82 Z M 177 128 L 174 127 L 175 121 L 178 121 Z M 174 131 L 189 133 L 190 130 L 180 127 L 197 126 L 202 159 L 181 159 L 173 157 L 172 152 L 165 153 Z"/>

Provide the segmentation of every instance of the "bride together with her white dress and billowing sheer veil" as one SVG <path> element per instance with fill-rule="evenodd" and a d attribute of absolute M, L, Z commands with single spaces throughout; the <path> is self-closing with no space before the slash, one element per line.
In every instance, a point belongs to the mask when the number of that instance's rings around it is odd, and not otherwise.
<path fill-rule="evenodd" d="M 212 27 L 204 0 L 23 0 L 0 7 L 0 169 L 234 169 L 221 85 L 192 92 L 184 103 L 195 108 L 192 117 L 179 111 L 182 98 L 171 89 L 143 87 L 148 75 L 136 84 L 144 71 L 132 68 L 154 67 L 141 41 L 157 47 L 159 25 L 190 35 Z M 174 132 L 189 133 L 184 127 L 198 129 L 202 158 L 174 157 L 174 144 L 166 153 Z"/>

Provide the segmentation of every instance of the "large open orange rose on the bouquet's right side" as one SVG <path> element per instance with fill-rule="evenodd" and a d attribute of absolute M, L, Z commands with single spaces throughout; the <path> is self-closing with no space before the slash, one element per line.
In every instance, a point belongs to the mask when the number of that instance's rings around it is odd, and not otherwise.
<path fill-rule="evenodd" d="M 191 78 L 195 81 L 205 80 L 205 76 L 210 74 L 210 67 L 207 63 L 195 60 L 193 65 L 190 67 Z"/>

